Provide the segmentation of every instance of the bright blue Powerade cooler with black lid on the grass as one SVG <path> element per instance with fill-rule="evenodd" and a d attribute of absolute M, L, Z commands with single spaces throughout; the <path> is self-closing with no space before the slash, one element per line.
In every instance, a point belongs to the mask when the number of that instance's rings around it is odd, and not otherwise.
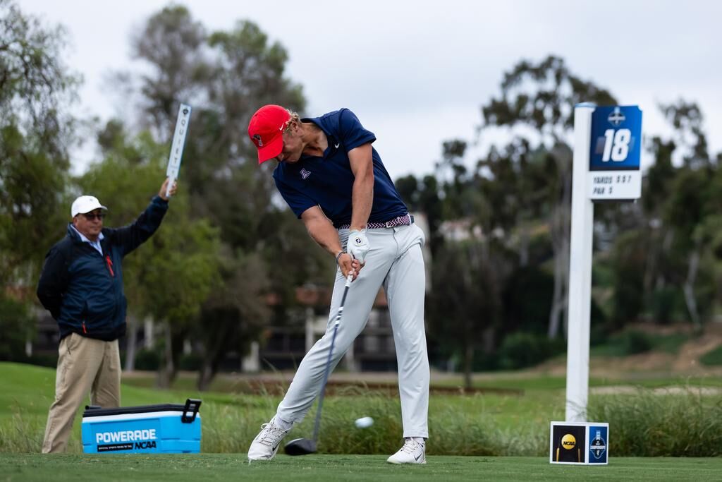
<path fill-rule="evenodd" d="M 88 406 L 83 413 L 87 454 L 189 454 L 201 451 L 201 400 L 136 407 Z"/>

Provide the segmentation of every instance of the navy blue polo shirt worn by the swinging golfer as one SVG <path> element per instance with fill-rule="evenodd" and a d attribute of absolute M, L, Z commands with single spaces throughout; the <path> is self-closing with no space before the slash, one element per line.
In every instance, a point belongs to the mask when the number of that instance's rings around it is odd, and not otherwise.
<path fill-rule="evenodd" d="M 309 207 L 318 205 L 334 226 L 349 224 L 355 176 L 348 152 L 374 142 L 376 137 L 364 129 L 355 113 L 347 108 L 302 121 L 320 127 L 329 139 L 329 147 L 321 157 L 302 155 L 297 163 L 279 163 L 273 173 L 276 186 L 298 218 Z M 368 222 L 385 223 L 409 210 L 373 147 L 372 158 L 373 205 Z"/>

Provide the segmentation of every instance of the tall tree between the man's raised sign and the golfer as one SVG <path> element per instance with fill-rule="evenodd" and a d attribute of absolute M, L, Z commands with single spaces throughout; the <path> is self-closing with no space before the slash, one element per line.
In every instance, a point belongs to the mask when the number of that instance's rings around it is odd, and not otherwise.
<path fill-rule="evenodd" d="M 221 281 L 200 312 L 219 322 L 196 319 L 168 337 L 197 334 L 202 324 L 199 387 L 205 387 L 225 354 L 245 353 L 268 321 L 262 295 L 278 295 L 279 309 L 286 309 L 296 303 L 295 287 L 331 272 L 332 260 L 280 207 L 268 166 L 258 168 L 246 132 L 264 103 L 300 111 L 305 100 L 300 85 L 284 74 L 285 49 L 270 43 L 253 22 L 206 35 L 187 9 L 167 7 L 148 20 L 133 43 L 134 56 L 151 72 L 141 82 L 138 125 L 149 126 L 158 142 L 167 141 L 178 103 L 193 105 L 181 180 L 188 186 L 192 217 L 209 220 L 222 243 Z"/>

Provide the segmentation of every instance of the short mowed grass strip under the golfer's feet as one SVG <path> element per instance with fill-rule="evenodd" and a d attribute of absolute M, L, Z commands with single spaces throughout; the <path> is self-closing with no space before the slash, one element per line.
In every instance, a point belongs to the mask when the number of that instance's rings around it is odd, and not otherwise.
<path fill-rule="evenodd" d="M 550 465 L 544 457 L 429 457 L 397 466 L 380 455 L 279 455 L 248 464 L 244 455 L 0 454 L 2 481 L 713 481 L 722 458 L 613 457 L 599 467 Z"/>

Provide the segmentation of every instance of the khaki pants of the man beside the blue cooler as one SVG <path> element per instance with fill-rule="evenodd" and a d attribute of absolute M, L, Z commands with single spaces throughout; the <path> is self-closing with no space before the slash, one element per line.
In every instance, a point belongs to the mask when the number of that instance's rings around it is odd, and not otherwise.
<path fill-rule="evenodd" d="M 121 356 L 118 340 L 103 341 L 72 333 L 58 350 L 55 401 L 45 426 L 43 453 L 65 452 L 75 414 L 90 392 L 90 403 L 103 408 L 121 404 Z"/>

